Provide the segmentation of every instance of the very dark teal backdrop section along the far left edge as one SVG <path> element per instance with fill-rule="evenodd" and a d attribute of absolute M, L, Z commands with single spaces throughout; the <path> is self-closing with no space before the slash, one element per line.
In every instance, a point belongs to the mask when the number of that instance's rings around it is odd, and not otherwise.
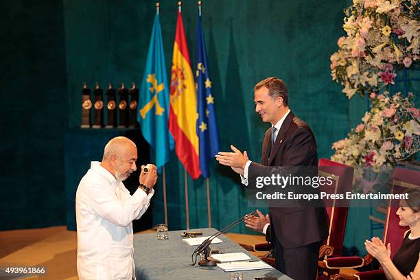
<path fill-rule="evenodd" d="M 0 230 L 65 221 L 68 126 L 61 1 L 1 1 Z"/>

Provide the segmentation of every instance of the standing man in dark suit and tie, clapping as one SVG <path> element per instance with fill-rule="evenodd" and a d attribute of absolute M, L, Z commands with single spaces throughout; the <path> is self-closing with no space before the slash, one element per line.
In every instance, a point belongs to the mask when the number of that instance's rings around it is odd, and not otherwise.
<path fill-rule="evenodd" d="M 288 90 L 277 78 L 261 80 L 254 88 L 255 111 L 270 122 L 262 146 L 261 164 L 248 159 L 233 145 L 233 152 L 220 152 L 216 159 L 241 174 L 242 183 L 255 187 L 257 177 L 286 175 L 286 167 L 317 165 L 316 141 L 310 127 L 288 107 Z M 248 184 L 249 183 L 249 184 Z M 328 234 L 325 208 L 296 202 L 288 207 L 270 207 L 270 235 L 276 267 L 301 280 L 316 279 L 319 248 Z"/>

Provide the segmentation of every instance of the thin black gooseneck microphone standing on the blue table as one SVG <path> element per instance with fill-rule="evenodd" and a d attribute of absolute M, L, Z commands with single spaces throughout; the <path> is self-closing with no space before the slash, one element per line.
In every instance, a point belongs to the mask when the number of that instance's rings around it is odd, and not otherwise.
<path fill-rule="evenodd" d="M 211 241 L 213 241 L 213 239 L 215 239 L 215 237 L 218 237 L 219 235 L 222 235 L 226 231 L 229 231 L 229 229 L 232 229 L 233 227 L 237 226 L 238 224 L 240 224 L 240 223 L 242 223 L 246 220 L 249 220 L 253 217 L 255 217 L 255 211 L 250 213 L 250 214 L 244 215 L 243 217 L 235 220 L 234 222 L 232 222 L 228 226 L 225 226 L 220 231 L 216 231 L 215 233 L 213 233 L 213 235 L 211 235 L 209 238 L 207 238 L 207 240 L 203 241 L 200 244 L 200 246 L 198 246 L 196 248 L 196 250 L 194 250 L 194 252 L 192 253 L 192 255 L 191 255 L 192 265 L 194 266 L 197 263 L 198 255 L 200 255 L 200 253 L 204 252 L 205 253 L 205 259 L 202 259 L 202 260 L 198 261 L 198 265 L 200 265 L 200 266 L 215 266 L 216 262 L 208 259 L 209 255 L 210 255 Z"/>

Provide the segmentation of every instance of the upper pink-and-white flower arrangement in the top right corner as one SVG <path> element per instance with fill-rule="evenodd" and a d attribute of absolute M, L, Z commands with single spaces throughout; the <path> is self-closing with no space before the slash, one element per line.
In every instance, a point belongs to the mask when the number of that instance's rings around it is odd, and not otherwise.
<path fill-rule="evenodd" d="M 419 0 L 353 0 L 345 9 L 338 51 L 331 56 L 331 76 L 355 93 L 378 92 L 395 84 L 395 67 L 420 60 Z"/>

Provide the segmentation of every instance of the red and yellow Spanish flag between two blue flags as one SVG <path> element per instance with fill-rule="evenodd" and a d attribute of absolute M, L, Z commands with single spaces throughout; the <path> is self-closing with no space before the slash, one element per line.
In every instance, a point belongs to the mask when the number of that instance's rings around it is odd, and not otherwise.
<path fill-rule="evenodd" d="M 175 152 L 189 176 L 200 177 L 196 130 L 197 95 L 189 62 L 183 18 L 178 11 L 170 86 L 169 128 L 175 140 Z"/>

